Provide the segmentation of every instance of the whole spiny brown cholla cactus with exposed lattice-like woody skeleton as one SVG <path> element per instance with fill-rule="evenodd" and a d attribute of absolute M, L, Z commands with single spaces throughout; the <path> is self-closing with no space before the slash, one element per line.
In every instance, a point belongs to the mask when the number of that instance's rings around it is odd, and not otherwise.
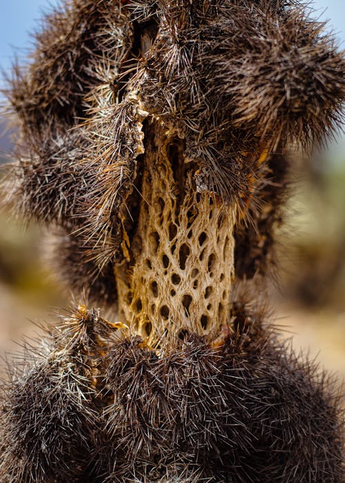
<path fill-rule="evenodd" d="M 289 0 L 66 0 L 8 99 L 10 200 L 80 304 L 3 386 L 3 482 L 342 482 L 324 375 L 265 319 L 292 142 L 342 53 Z M 250 298 L 248 287 L 255 280 Z M 118 322 L 121 321 L 121 322 Z"/>

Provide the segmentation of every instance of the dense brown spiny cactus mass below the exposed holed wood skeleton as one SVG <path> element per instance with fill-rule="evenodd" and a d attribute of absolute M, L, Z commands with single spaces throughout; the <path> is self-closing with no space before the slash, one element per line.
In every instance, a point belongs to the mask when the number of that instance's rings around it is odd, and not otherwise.
<path fill-rule="evenodd" d="M 340 482 L 330 382 L 260 313 L 233 317 L 221 344 L 193 335 L 157 353 L 75 308 L 10 368 L 3 481 Z"/>

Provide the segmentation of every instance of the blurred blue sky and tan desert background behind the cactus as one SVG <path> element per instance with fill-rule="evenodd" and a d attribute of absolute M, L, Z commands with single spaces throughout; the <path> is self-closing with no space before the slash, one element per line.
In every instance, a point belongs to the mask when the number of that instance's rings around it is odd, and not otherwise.
<path fill-rule="evenodd" d="M 6 87 L 12 60 L 25 62 L 37 20 L 57 1 L 2 2 L 0 87 Z M 344 0 L 311 3 L 313 16 L 329 20 L 339 46 L 345 41 Z M 1 98 L 3 101 L 3 98 Z M 0 119 L 0 164 L 10 159 L 11 133 Z M 6 170 L 3 171 L 3 176 Z M 293 173 L 286 225 L 279 232 L 279 270 L 270 288 L 275 323 L 293 337 L 297 350 L 317 357 L 320 366 L 345 377 L 345 137 L 315 150 L 311 162 Z M 33 322 L 52 318 L 70 295 L 42 262 L 43 229 L 0 215 L 0 355 L 17 348 Z"/>

